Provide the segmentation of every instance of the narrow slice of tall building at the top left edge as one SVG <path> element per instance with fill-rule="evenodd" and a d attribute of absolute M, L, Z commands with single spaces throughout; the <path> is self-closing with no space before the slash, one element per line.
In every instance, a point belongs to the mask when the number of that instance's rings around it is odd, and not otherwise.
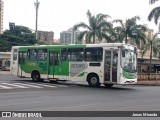
<path fill-rule="evenodd" d="M 4 2 L 0 0 L 0 34 L 3 33 L 3 10 L 4 10 Z"/>

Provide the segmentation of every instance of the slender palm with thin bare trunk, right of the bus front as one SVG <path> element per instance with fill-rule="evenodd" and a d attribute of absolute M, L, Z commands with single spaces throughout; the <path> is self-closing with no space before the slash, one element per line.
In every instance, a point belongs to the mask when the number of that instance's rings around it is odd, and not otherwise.
<path fill-rule="evenodd" d="M 153 35 L 152 38 L 147 38 L 147 42 L 146 44 L 143 46 L 143 50 L 142 50 L 142 56 L 144 56 L 144 54 L 146 53 L 147 50 L 150 50 L 150 62 L 149 62 L 149 76 L 148 78 L 150 79 L 150 73 L 151 73 L 151 62 L 152 62 L 152 56 L 156 56 L 158 58 L 160 58 L 160 50 L 158 47 L 158 42 L 160 41 L 160 39 L 157 37 L 159 33 L 156 33 Z"/>

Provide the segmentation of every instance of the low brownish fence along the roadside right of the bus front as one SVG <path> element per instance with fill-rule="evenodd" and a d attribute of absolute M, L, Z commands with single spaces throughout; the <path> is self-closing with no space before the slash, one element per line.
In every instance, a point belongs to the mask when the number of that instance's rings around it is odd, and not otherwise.
<path fill-rule="evenodd" d="M 148 73 L 138 73 L 138 80 L 149 80 Z M 151 73 L 150 80 L 160 80 L 160 73 Z"/>

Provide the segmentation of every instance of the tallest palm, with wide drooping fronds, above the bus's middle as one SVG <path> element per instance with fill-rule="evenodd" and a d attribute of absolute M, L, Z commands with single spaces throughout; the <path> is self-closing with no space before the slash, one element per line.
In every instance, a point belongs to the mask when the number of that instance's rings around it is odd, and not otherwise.
<path fill-rule="evenodd" d="M 95 16 L 88 10 L 87 17 L 89 25 L 84 22 L 80 22 L 73 27 L 74 30 L 77 30 L 78 28 L 85 28 L 85 30 L 78 36 L 78 40 L 82 40 L 85 37 L 86 43 L 95 43 L 96 38 L 100 41 L 106 39 L 110 42 L 111 38 L 107 33 L 109 33 L 112 24 L 106 21 L 106 18 L 109 18 L 110 16 L 104 14 L 98 14 Z"/>

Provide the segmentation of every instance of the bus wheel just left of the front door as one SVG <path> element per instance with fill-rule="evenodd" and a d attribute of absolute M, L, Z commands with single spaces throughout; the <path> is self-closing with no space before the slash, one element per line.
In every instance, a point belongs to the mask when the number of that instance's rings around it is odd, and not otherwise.
<path fill-rule="evenodd" d="M 91 74 L 90 76 L 88 76 L 87 81 L 88 81 L 89 86 L 91 87 L 100 86 L 99 77 L 96 74 Z"/>

